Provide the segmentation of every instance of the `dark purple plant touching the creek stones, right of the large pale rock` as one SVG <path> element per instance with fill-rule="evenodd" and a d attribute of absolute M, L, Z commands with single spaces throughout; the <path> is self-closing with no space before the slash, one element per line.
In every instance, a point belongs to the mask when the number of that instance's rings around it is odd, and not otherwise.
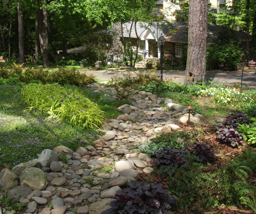
<path fill-rule="evenodd" d="M 188 159 L 184 157 L 186 154 L 188 154 L 186 148 L 172 149 L 163 147 L 163 149 L 159 149 L 156 154 L 153 155 L 153 164 L 155 167 L 173 167 L 174 164 L 178 166 L 188 165 Z"/>

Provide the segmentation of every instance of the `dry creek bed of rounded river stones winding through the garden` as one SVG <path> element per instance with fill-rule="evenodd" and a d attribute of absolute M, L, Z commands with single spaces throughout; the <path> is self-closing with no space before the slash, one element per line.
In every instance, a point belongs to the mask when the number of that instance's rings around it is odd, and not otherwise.
<path fill-rule="evenodd" d="M 104 83 L 91 87 L 97 90 L 98 86 L 104 87 Z M 104 91 L 116 94 L 113 88 Z M 144 91 L 134 91 L 133 98 L 135 104 L 120 106 L 122 114 L 102 126 L 106 134 L 92 146 L 77 151 L 64 146 L 45 149 L 38 159 L 12 170 L 3 169 L 0 195 L 10 189 L 8 197 L 20 197 L 24 214 L 101 214 L 110 208 L 118 190 L 136 180 L 139 173 L 150 174 L 153 170 L 149 167 L 151 158 L 140 153 L 137 146 L 159 132 L 179 129 L 178 125 L 188 120 L 186 106 L 170 99 Z M 191 115 L 190 121 L 197 123 L 201 117 Z"/>

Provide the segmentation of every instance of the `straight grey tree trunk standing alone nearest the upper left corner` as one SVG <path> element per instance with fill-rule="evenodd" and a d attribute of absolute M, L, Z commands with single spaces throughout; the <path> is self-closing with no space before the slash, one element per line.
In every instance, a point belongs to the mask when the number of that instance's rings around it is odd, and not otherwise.
<path fill-rule="evenodd" d="M 22 18 L 22 9 L 20 3 L 17 6 L 18 11 L 18 31 L 19 31 L 19 64 L 25 63 L 25 41 L 24 41 L 24 26 Z"/>

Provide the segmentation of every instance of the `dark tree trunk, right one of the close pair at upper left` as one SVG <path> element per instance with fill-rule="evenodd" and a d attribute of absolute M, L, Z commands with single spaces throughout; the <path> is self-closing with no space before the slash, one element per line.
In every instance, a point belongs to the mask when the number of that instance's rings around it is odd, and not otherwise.
<path fill-rule="evenodd" d="M 48 12 L 43 6 L 43 66 L 49 67 L 49 44 L 48 44 Z"/>

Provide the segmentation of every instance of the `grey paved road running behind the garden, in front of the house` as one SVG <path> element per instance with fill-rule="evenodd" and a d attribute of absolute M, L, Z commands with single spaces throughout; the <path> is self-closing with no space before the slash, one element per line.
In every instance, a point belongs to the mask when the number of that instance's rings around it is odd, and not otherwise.
<path fill-rule="evenodd" d="M 127 74 L 127 70 L 81 70 L 81 73 L 88 75 L 92 74 L 102 80 L 111 80 L 114 76 L 123 77 L 123 74 Z M 136 75 L 139 71 L 131 71 L 132 75 Z M 158 71 L 159 72 L 159 71 Z M 163 71 L 163 80 L 172 79 L 174 82 L 184 82 L 184 71 Z M 234 85 L 235 83 L 241 83 L 242 72 L 207 72 L 206 81 L 212 80 L 216 83 L 225 83 L 227 85 Z M 256 70 L 245 69 L 243 72 L 242 85 L 256 88 Z"/>

